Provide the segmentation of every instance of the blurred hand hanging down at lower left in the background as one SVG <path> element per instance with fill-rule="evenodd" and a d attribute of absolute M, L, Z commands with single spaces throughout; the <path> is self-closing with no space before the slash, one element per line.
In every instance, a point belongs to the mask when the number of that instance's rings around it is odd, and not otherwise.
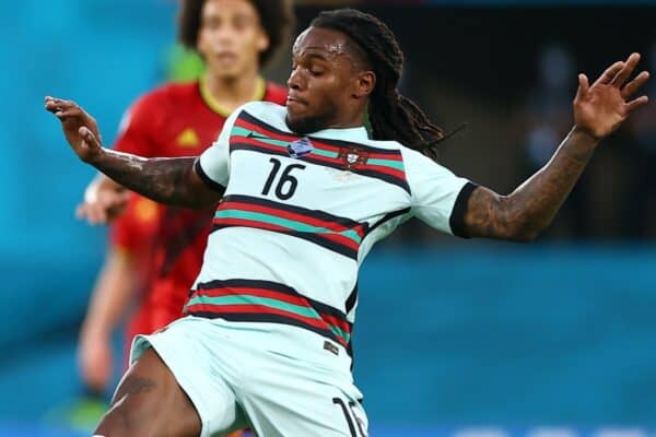
<path fill-rule="evenodd" d="M 109 336 L 83 333 L 78 350 L 78 362 L 86 387 L 95 392 L 105 391 L 113 374 Z"/>

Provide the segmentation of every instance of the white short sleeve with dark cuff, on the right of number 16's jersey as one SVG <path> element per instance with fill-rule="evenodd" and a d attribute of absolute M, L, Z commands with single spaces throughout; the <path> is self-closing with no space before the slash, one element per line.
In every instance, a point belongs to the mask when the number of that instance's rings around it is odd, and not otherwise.
<path fill-rule="evenodd" d="M 403 161 L 412 215 L 436 229 L 467 238 L 467 201 L 477 185 L 414 151 L 403 151 Z"/>

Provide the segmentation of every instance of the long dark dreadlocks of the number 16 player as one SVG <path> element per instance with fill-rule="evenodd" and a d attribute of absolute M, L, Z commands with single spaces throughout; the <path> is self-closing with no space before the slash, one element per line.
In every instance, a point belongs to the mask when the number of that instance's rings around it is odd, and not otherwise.
<path fill-rule="evenodd" d="M 374 140 L 398 141 L 437 160 L 437 143 L 444 139 L 443 131 L 414 102 L 398 92 L 403 52 L 389 27 L 354 9 L 321 12 L 312 26 L 343 33 L 366 55 L 376 74 L 368 106 Z"/>

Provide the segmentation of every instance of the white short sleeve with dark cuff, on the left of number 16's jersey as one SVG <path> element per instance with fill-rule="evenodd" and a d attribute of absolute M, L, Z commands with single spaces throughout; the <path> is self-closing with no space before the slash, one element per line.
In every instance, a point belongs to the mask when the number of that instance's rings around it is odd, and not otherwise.
<path fill-rule="evenodd" d="M 214 190 L 223 191 L 230 179 L 230 135 L 242 108 L 236 109 L 223 125 L 219 139 L 196 162 L 198 176 Z"/>

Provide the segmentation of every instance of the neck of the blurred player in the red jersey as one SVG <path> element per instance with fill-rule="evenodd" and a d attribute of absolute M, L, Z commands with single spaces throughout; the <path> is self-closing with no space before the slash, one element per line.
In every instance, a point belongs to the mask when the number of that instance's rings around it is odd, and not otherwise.
<path fill-rule="evenodd" d="M 246 102 L 261 98 L 257 95 L 261 82 L 256 67 L 235 78 L 220 76 L 208 71 L 203 80 L 209 96 L 225 113 L 232 113 Z"/>

